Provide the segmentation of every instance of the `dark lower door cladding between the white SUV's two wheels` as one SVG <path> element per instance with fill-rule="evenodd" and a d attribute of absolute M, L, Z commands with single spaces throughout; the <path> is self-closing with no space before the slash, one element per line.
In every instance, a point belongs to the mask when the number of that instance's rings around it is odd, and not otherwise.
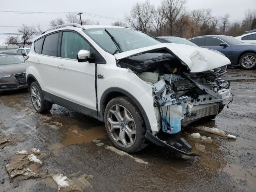
<path fill-rule="evenodd" d="M 98 118 L 97 111 L 87 108 L 85 106 L 82 106 L 80 104 L 74 103 L 72 101 L 66 100 L 64 98 L 58 97 L 54 94 L 48 93 L 46 91 L 43 91 L 44 93 L 44 99 L 48 102 L 51 102 L 53 104 L 57 104 L 63 107 L 66 107 L 68 109 L 74 110 L 76 112 L 80 112 L 82 114 L 91 116 L 93 118 Z"/>

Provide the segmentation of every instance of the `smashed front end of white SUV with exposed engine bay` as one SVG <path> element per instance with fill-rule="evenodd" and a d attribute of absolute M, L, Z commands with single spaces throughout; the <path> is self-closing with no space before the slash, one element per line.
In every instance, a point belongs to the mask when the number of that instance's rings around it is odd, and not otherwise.
<path fill-rule="evenodd" d="M 167 46 L 122 58 L 117 65 L 129 68 L 152 87 L 159 132 L 147 131 L 145 137 L 158 146 L 165 146 L 182 154 L 196 155 L 191 152 L 192 147 L 186 140 L 175 138 L 171 134 L 180 132 L 182 125 L 205 117 L 214 118 L 222 111 L 225 105 L 223 101 L 230 97 L 231 88 L 230 82 L 220 76 L 226 73 L 226 65 L 230 61 L 210 50 L 190 51 L 190 54 L 185 55 L 186 58 L 184 54 L 182 58 Z M 217 64 L 214 69 L 200 66 L 199 68 L 207 70 L 196 70 L 197 61 L 198 65 L 207 63 L 207 54 L 216 54 L 216 62 L 219 58 L 223 65 Z M 190 63 L 186 64 L 184 60 L 188 58 Z M 169 137 L 166 134 L 162 136 L 161 133 L 167 133 Z"/>

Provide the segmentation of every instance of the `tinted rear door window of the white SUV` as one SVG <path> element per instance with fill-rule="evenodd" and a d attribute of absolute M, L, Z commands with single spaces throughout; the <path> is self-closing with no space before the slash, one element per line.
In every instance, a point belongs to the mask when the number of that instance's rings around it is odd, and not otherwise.
<path fill-rule="evenodd" d="M 58 56 L 59 33 L 50 34 L 45 37 L 42 54 Z"/>

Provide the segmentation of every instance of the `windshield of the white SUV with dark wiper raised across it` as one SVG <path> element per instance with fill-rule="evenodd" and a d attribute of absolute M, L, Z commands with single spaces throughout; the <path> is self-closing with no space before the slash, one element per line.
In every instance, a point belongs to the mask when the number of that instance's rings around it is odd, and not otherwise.
<path fill-rule="evenodd" d="M 118 42 L 122 52 L 160 44 L 161 42 L 140 31 L 129 28 L 106 28 Z M 106 52 L 113 54 L 117 47 L 105 28 L 85 29 L 84 32 Z M 118 51 L 119 52 L 119 51 Z"/>

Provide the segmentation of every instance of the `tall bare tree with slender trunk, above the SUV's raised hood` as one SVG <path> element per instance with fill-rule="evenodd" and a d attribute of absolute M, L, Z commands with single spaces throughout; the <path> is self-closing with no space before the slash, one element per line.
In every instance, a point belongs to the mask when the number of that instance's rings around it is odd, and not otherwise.
<path fill-rule="evenodd" d="M 167 18 L 170 36 L 174 34 L 174 25 L 183 14 L 185 4 L 186 0 L 162 0 L 164 16 Z"/>

